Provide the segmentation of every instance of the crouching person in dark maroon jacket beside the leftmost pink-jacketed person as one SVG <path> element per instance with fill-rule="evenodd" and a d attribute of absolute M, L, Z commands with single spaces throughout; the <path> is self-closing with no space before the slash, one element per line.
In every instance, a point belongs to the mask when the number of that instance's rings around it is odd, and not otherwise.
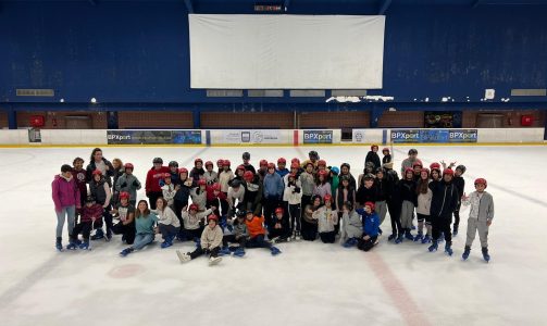
<path fill-rule="evenodd" d="M 94 226 L 102 225 L 102 205 L 96 203 L 92 196 L 88 196 L 86 204 L 82 208 L 82 217 L 79 223 L 74 227 L 71 235 L 71 242 L 66 246 L 66 249 L 76 249 L 78 234 L 80 233 L 84 237 L 84 242 L 79 243 L 79 249 L 89 249 L 89 234 L 91 233 Z"/>

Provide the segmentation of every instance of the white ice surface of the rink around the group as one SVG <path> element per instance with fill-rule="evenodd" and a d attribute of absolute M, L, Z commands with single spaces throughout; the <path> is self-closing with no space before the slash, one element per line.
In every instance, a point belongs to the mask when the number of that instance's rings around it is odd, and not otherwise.
<path fill-rule="evenodd" d="M 152 158 L 191 167 L 195 158 L 251 163 L 284 156 L 306 159 L 311 148 L 103 148 L 108 160 L 135 165 L 144 183 Z M 328 165 L 362 172 L 368 147 L 319 147 Z M 409 147 L 395 147 L 395 162 Z M 494 196 L 489 230 L 492 261 L 478 239 L 461 261 L 465 210 L 453 256 L 426 244 L 387 242 L 371 252 L 338 243 L 291 242 L 272 256 L 265 249 L 227 256 L 216 266 L 206 258 L 181 264 L 175 250 L 194 243 L 153 244 L 127 258 L 121 236 L 92 241 L 92 251 L 54 249 L 51 181 L 75 156 L 89 162 L 91 148 L 0 149 L 1 325 L 547 325 L 547 147 L 417 147 L 419 158 L 457 161 L 468 167 L 465 191 L 484 177 Z M 138 193 L 145 198 L 144 190 Z M 63 244 L 67 242 L 66 227 Z M 444 246 L 444 244 L 442 244 Z M 440 249 L 440 247 L 439 247 Z"/>

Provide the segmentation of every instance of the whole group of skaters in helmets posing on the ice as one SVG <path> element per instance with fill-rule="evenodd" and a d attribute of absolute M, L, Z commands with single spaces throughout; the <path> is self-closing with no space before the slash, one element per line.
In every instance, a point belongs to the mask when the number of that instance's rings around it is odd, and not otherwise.
<path fill-rule="evenodd" d="M 276 255 L 281 251 L 275 243 L 316 239 L 369 251 L 378 243 L 381 225 L 389 213 L 389 241 L 431 243 L 428 250 L 435 251 L 444 239 L 445 251 L 451 255 L 459 210 L 468 204 L 462 258 L 468 259 L 478 231 L 483 258 L 488 261 L 494 202 L 485 191 L 486 180 L 477 178 L 476 190 L 468 197 L 462 177 L 465 166 L 452 170 L 455 163 L 446 166 L 440 162 L 427 168 L 411 149 L 399 177 L 389 149 L 382 153 L 381 160 L 378 147 L 373 145 L 357 178 L 348 163 L 327 165 L 313 150 L 302 162 L 297 158 L 290 164 L 285 158 L 276 163 L 260 160 L 258 168 L 245 152 L 234 171 L 224 159 L 215 164 L 195 159 L 187 170 L 176 161 L 164 165 L 161 158 L 154 158 L 142 185 L 132 163 L 111 162 L 96 148 L 86 168 L 85 161 L 76 158 L 54 177 L 55 247 L 63 250 L 66 221 L 66 249 L 89 249 L 90 239 L 110 241 L 113 235 L 121 235 L 129 244 L 121 252 L 123 256 L 152 243 L 157 234 L 163 238 L 163 249 L 175 240 L 196 242 L 192 252 L 176 251 L 181 262 L 208 254 L 215 264 L 222 255 L 243 256 L 249 248 L 266 248 Z M 148 200 L 137 203 L 142 186 Z M 415 235 L 413 229 L 418 229 Z"/>

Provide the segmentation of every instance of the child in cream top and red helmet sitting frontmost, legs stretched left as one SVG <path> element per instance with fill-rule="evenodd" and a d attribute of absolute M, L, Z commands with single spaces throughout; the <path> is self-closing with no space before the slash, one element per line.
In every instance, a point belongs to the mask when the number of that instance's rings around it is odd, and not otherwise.
<path fill-rule="evenodd" d="M 219 256 L 222 243 L 222 229 L 219 226 L 219 217 L 214 214 L 207 216 L 208 226 L 201 234 L 201 243 L 198 244 L 192 252 L 183 253 L 181 250 L 176 251 L 181 263 L 189 262 L 204 253 L 209 254 L 209 264 L 217 264 L 222 258 Z"/>

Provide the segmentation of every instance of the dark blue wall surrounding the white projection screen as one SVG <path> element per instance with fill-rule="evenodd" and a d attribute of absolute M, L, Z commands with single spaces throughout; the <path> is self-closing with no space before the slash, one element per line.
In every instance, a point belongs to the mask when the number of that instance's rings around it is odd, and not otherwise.
<path fill-rule="evenodd" d="M 377 13 L 374 1 L 360 5 L 357 1 L 315 2 L 295 1 L 288 13 Z M 198 0 L 194 9 L 198 13 L 251 13 L 252 1 L 226 3 L 231 1 Z M 496 89 L 497 102 L 509 97 L 511 88 L 546 88 L 546 17 L 545 5 L 393 4 L 386 21 L 384 89 L 370 93 L 393 96 L 396 102 L 410 102 L 409 106 L 426 97 L 430 103 L 451 97 L 460 106 L 472 106 L 468 97 L 481 104 L 486 88 Z M 291 99 L 288 92 L 283 99 L 211 99 L 204 90 L 189 89 L 187 23 L 182 0 L 99 1 L 97 5 L 4 1 L 0 8 L 0 108 L 2 102 L 58 103 L 61 98 L 67 103 L 88 103 L 91 97 L 117 108 L 324 103 L 324 98 Z M 55 98 L 16 97 L 16 88 L 53 88 Z M 526 97 L 499 105 L 519 101 L 535 102 L 536 108 L 547 103 L 545 97 Z"/>

